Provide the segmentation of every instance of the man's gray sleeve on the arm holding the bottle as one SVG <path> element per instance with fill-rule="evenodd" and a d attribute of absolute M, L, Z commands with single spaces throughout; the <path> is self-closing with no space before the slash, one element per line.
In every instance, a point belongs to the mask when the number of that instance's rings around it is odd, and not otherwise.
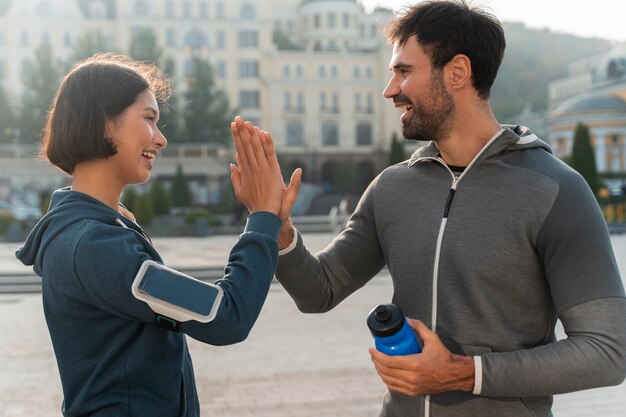
<path fill-rule="evenodd" d="M 560 181 L 537 250 L 567 338 L 482 355 L 481 395 L 545 396 L 621 383 L 626 375 L 624 289 L 604 218 L 577 173 Z"/>

